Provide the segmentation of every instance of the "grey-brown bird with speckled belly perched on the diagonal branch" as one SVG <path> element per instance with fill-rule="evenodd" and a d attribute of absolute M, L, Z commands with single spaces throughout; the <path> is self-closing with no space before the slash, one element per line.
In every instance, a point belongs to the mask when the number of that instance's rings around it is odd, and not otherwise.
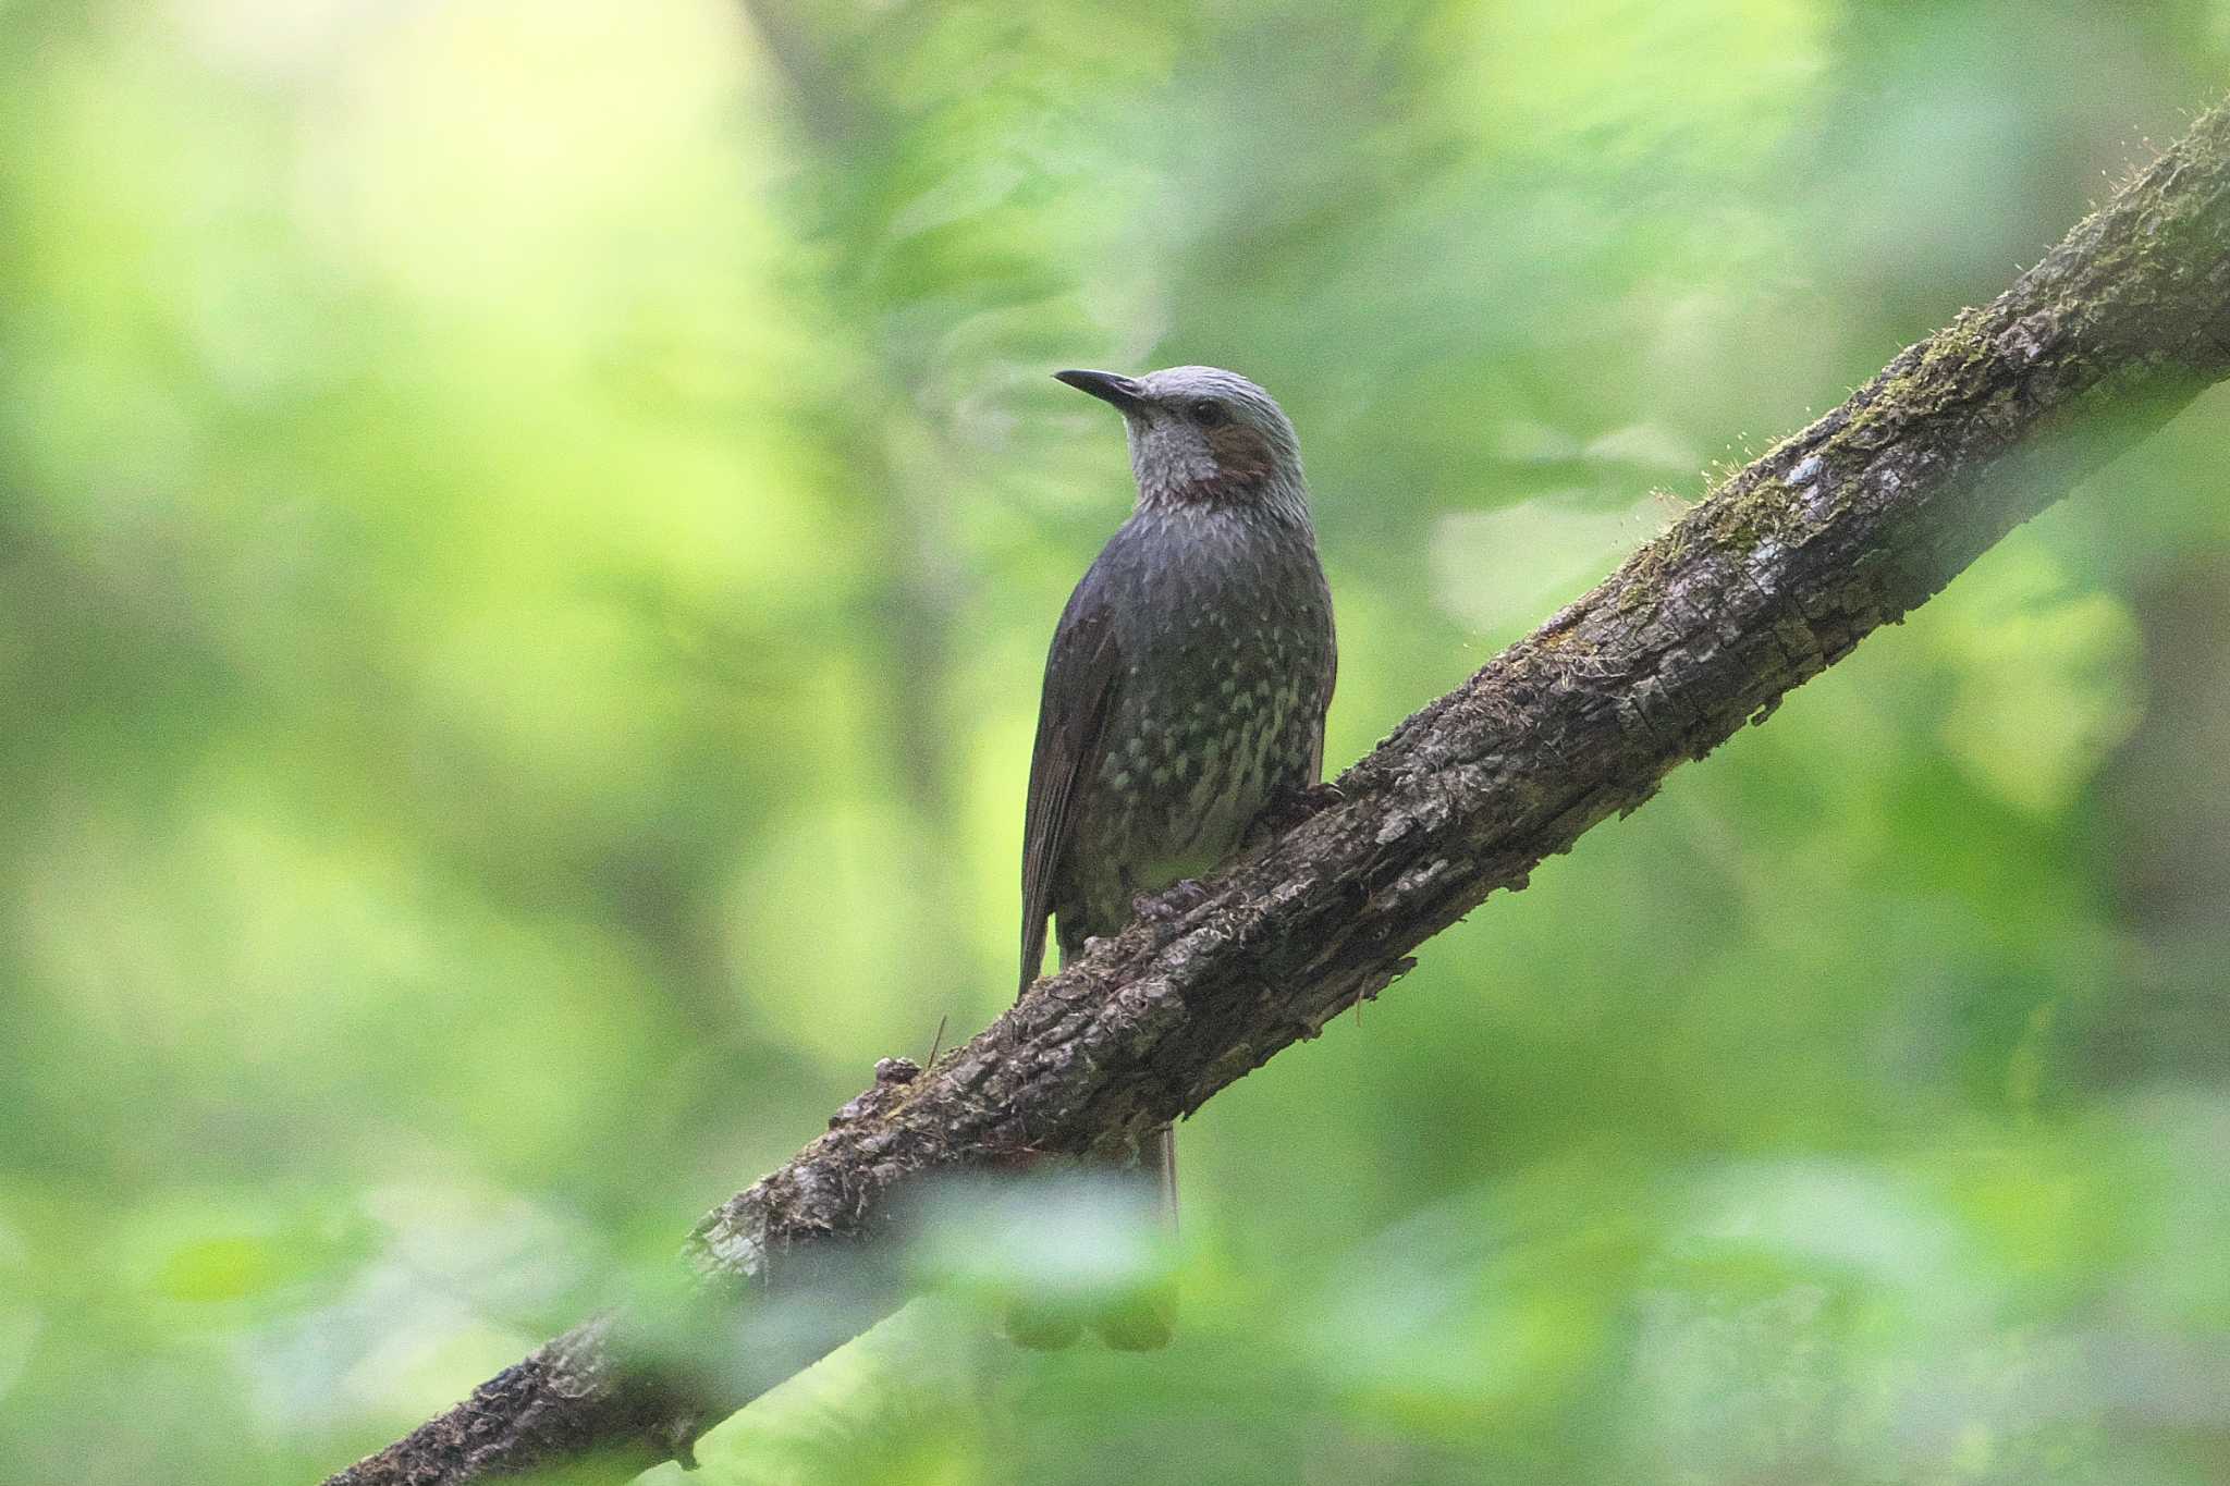
<path fill-rule="evenodd" d="M 1061 965 L 1131 922 L 1133 900 L 1198 878 L 1325 769 L 1338 677 L 1300 439 L 1269 392 L 1211 365 L 1055 372 L 1124 419 L 1137 504 L 1077 581 L 1046 655 L 1021 844 L 1021 991 L 1046 922 Z M 1137 1165 L 1175 1223 L 1169 1127 Z M 1166 1346 L 1166 1297 L 1088 1317 L 1115 1348 Z M 1015 1303 L 1008 1335 L 1082 1335 Z"/>

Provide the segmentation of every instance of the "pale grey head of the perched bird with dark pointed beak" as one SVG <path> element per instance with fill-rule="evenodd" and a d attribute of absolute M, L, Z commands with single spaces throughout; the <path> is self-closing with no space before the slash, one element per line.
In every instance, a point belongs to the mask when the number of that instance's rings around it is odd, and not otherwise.
<path fill-rule="evenodd" d="M 1122 412 L 1140 510 L 1235 506 L 1309 524 L 1293 423 L 1238 372 L 1173 365 L 1144 377 L 1055 372 L 1055 379 Z"/>

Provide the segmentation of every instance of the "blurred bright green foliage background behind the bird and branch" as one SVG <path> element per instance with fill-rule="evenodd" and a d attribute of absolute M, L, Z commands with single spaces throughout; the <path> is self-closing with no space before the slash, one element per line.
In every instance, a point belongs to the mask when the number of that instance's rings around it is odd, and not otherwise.
<path fill-rule="evenodd" d="M 1996 294 L 2230 2 L 0 4 L 0 1477 L 306 1482 L 1008 1000 L 1061 365 L 1309 454 L 1329 762 Z M 2230 1479 L 2230 399 L 776 1482 Z M 658 1479 L 676 1479 L 667 1466 Z"/>

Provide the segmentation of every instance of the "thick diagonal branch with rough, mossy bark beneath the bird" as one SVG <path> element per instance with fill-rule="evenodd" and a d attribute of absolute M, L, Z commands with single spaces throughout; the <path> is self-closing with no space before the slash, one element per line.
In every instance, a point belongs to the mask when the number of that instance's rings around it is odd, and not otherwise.
<path fill-rule="evenodd" d="M 1097 942 L 937 1067 L 879 1069 L 825 1136 L 689 1236 L 678 1306 L 716 1339 L 696 1366 L 629 1361 L 598 1321 L 332 1482 L 477 1482 L 591 1448 L 615 1450 L 613 1470 L 687 1455 L 702 1424 L 903 1299 L 872 1257 L 910 1183 L 1115 1152 L 1191 1114 L 2226 374 L 2230 111 L 2217 109 L 1998 301 L 1909 348 L 1400 724 L 1334 804 L 1204 898 Z M 816 1299 L 783 1326 L 747 1326 L 801 1294 Z"/>

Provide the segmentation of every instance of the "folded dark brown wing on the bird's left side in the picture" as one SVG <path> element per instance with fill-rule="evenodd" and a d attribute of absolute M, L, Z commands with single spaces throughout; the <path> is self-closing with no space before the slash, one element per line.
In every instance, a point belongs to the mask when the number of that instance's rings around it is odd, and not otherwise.
<path fill-rule="evenodd" d="M 1030 800 L 1021 818 L 1021 989 L 1046 958 L 1053 880 L 1068 853 L 1075 804 L 1099 769 L 1106 720 L 1115 711 L 1124 662 L 1108 608 L 1077 588 L 1046 657 L 1046 695 L 1037 704 L 1037 749 L 1030 753 Z"/>

